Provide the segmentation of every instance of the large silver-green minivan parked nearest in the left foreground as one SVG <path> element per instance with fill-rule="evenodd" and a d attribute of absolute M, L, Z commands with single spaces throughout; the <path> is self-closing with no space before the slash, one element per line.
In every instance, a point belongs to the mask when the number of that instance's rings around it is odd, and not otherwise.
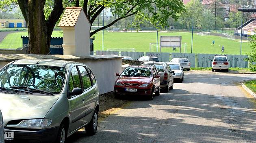
<path fill-rule="evenodd" d="M 83 127 L 96 133 L 98 85 L 82 63 L 17 60 L 0 69 L 0 109 L 5 140 L 65 143 Z"/>

